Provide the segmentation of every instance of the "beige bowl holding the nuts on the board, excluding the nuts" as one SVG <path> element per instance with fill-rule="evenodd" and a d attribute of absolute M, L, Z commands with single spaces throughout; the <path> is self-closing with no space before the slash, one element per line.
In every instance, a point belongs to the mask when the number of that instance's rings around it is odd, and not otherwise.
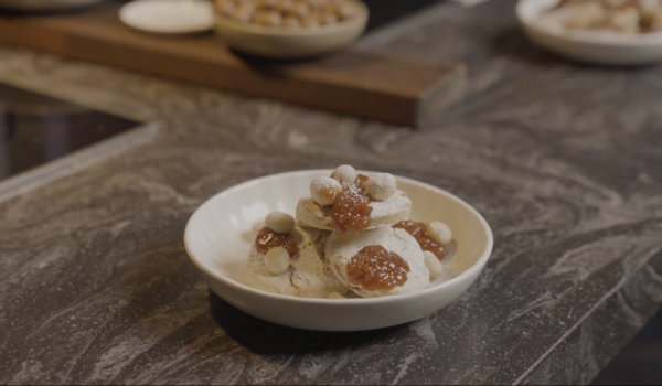
<path fill-rule="evenodd" d="M 355 1 L 359 13 L 317 29 L 286 30 L 216 15 L 215 31 L 232 49 L 274 58 L 305 58 L 340 50 L 354 42 L 367 23 L 367 7 Z"/>

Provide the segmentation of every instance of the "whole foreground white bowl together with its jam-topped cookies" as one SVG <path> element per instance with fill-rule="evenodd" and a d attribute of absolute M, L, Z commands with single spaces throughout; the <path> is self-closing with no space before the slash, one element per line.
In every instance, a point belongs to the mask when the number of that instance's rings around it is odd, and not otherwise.
<path fill-rule="evenodd" d="M 439 187 L 342 165 L 229 187 L 195 211 L 184 244 L 211 290 L 248 314 L 364 331 L 458 299 L 493 237 L 471 205 Z"/>

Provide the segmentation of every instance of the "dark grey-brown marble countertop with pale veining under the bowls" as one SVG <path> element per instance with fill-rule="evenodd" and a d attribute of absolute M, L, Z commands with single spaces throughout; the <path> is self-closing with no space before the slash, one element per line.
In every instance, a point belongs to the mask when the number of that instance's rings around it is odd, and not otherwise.
<path fill-rule="evenodd" d="M 445 3 L 361 44 L 468 64 L 414 131 L 0 47 L 0 81 L 158 120 L 159 138 L 0 204 L 0 383 L 587 383 L 662 305 L 662 67 L 573 64 L 514 2 Z M 265 174 L 352 163 L 491 224 L 471 289 L 361 333 L 263 322 L 211 293 L 182 234 Z"/>

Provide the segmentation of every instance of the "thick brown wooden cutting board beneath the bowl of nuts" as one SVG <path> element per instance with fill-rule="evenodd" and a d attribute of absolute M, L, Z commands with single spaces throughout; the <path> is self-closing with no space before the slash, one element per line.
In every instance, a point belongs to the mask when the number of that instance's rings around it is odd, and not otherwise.
<path fill-rule="evenodd" d="M 299 62 L 237 55 L 214 34 L 134 31 L 109 2 L 72 14 L 0 15 L 0 43 L 414 127 L 465 94 L 461 63 L 344 50 Z"/>

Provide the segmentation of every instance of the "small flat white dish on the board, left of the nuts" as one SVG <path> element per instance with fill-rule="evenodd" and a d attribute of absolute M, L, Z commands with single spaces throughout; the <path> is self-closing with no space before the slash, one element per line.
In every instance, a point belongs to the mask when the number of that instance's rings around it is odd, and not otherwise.
<path fill-rule="evenodd" d="M 136 0 L 120 8 L 119 20 L 151 33 L 200 33 L 214 28 L 214 4 L 209 0 Z"/>

